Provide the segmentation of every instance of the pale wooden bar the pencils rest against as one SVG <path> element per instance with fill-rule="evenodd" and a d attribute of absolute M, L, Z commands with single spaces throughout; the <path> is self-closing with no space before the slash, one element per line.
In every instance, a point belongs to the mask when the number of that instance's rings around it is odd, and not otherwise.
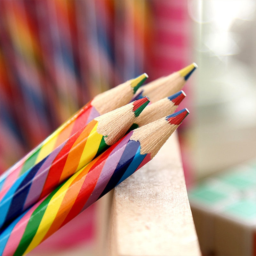
<path fill-rule="evenodd" d="M 201 255 L 176 132 L 114 190 L 108 255 Z"/>

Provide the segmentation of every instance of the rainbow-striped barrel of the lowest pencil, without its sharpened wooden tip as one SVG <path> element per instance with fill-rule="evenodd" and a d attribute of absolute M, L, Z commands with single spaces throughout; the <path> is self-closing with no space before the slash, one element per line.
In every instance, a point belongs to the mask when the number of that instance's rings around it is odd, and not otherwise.
<path fill-rule="evenodd" d="M 0 236 L 3 255 L 29 252 L 108 193 L 122 177 L 146 164 L 150 156 L 140 155 L 140 143 L 129 140 L 130 136 L 127 134 L 8 226 Z"/>

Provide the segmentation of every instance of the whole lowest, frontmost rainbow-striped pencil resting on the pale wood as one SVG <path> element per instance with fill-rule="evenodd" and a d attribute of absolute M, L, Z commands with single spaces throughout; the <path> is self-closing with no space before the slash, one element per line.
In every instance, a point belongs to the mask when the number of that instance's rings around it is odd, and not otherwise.
<path fill-rule="evenodd" d="M 150 161 L 188 115 L 175 114 L 131 131 L 50 195 L 14 220 L 0 235 L 2 255 L 22 255 Z"/>

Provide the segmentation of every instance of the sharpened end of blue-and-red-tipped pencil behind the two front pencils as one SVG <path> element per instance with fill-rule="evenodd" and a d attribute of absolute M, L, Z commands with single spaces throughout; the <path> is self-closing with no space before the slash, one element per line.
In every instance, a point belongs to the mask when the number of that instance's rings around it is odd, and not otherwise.
<path fill-rule="evenodd" d="M 172 96 L 166 97 L 164 99 L 158 100 L 152 104 L 148 104 L 140 116 L 136 118 L 134 124 L 132 124 L 129 131 L 132 131 L 142 125 L 149 124 L 157 119 L 160 119 L 168 114 L 172 114 L 178 108 L 180 102 L 186 97 L 185 92 L 182 90 L 180 92 L 174 93 Z"/>

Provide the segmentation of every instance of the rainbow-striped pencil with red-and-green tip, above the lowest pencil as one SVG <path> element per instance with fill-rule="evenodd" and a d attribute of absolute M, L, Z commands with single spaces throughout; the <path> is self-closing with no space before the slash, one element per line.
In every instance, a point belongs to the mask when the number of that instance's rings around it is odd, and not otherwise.
<path fill-rule="evenodd" d="M 145 97 L 94 118 L 21 175 L 0 201 L 0 228 L 121 139 L 148 102 Z"/>

